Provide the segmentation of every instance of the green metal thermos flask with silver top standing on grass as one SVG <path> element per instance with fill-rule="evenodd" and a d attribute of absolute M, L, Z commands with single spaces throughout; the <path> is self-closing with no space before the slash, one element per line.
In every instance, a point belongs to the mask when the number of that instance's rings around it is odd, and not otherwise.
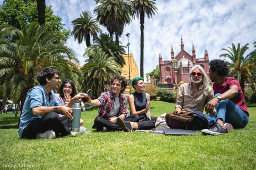
<path fill-rule="evenodd" d="M 76 101 L 72 112 L 73 120 L 71 125 L 71 131 L 79 133 L 80 118 L 81 118 L 81 107 L 80 102 Z"/>

